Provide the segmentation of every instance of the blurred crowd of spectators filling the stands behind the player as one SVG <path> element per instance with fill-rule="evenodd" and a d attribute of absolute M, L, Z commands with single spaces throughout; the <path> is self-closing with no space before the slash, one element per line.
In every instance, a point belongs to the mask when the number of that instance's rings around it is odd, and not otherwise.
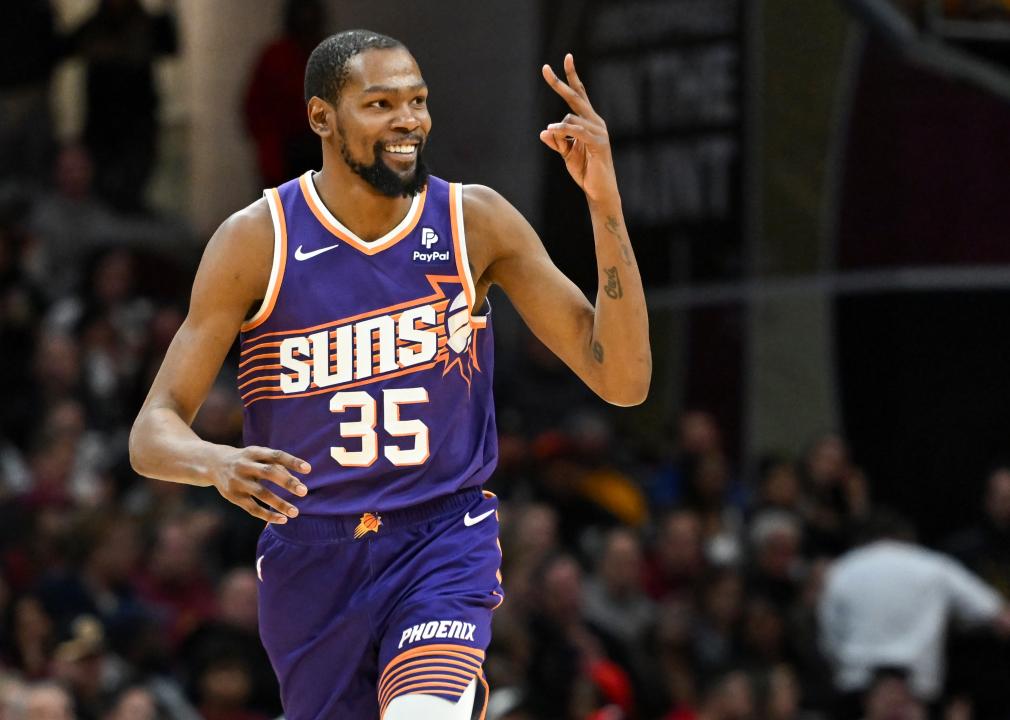
<path fill-rule="evenodd" d="M 58 36 L 47 3 L 22 5 L 0 25 L 23 48 L 0 63 L 0 720 L 278 717 L 261 523 L 127 456 L 196 260 L 143 194 L 172 19 L 103 0 Z M 316 16 L 286 17 L 250 69 L 250 117 L 314 43 Z M 39 98 L 68 54 L 88 63 L 89 114 L 58 145 Z M 108 104 L 131 108 L 129 132 L 103 125 L 123 120 Z M 265 178 L 307 162 L 277 122 L 248 126 Z M 234 363 L 195 421 L 214 442 L 240 443 Z M 534 340 L 504 368 L 488 718 L 1010 717 L 1010 469 L 976 525 L 926 548 L 838 434 L 740 460 L 693 409 L 647 447 Z"/>

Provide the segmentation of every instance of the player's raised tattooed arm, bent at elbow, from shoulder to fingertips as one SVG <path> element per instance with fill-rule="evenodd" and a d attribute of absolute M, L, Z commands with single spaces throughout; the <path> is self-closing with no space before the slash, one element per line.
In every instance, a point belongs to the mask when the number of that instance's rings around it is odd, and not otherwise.
<path fill-rule="evenodd" d="M 543 66 L 547 84 L 572 109 L 540 139 L 565 160 L 586 193 L 593 222 L 599 285 L 591 305 L 550 262 L 529 223 L 501 196 L 479 186 L 464 192 L 471 228 L 489 247 L 484 277 L 505 291 L 533 333 L 600 397 L 615 405 L 637 405 L 651 379 L 648 315 L 641 276 L 624 227 L 606 124 L 565 59 L 569 83 Z"/>

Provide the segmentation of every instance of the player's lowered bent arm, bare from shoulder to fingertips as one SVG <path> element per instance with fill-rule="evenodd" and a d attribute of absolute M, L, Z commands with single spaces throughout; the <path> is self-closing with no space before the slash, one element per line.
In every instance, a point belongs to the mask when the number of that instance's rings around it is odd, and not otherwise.
<path fill-rule="evenodd" d="M 266 293 L 273 252 L 266 200 L 235 213 L 214 233 L 193 282 L 189 313 L 133 423 L 129 452 L 140 475 L 213 486 L 250 515 L 283 523 L 298 511 L 264 482 L 304 496 L 307 489 L 292 472 L 306 473 L 308 464 L 280 449 L 207 442 L 190 427 L 246 313 Z"/>

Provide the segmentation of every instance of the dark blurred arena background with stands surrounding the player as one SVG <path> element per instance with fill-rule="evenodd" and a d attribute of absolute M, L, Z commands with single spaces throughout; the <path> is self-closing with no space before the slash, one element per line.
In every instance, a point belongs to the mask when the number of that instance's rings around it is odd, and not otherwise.
<path fill-rule="evenodd" d="M 126 437 L 210 233 L 312 163 L 304 45 L 349 27 L 417 58 L 433 171 L 501 191 L 592 295 L 584 199 L 536 137 L 565 112 L 539 67 L 573 52 L 646 280 L 654 375 L 629 410 L 492 300 L 488 717 L 1010 717 L 1006 0 L 19 0 L 0 719 L 280 714 L 259 523 L 138 478 Z M 233 369 L 208 439 L 239 441 Z M 922 585 L 881 556 L 866 602 L 834 597 L 832 568 L 889 534 Z M 898 641 L 846 645 L 867 622 Z"/>

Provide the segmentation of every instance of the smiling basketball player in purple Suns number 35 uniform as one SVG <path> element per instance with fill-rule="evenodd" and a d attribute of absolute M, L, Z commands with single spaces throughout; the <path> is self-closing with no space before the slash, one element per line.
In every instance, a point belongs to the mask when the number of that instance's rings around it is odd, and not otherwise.
<path fill-rule="evenodd" d="M 427 87 L 399 41 L 332 35 L 305 72 L 323 167 L 211 238 L 130 436 L 141 475 L 213 486 L 266 520 L 260 625 L 289 720 L 483 717 L 502 602 L 492 284 L 605 400 L 651 373 L 606 126 L 565 59 L 572 112 L 540 133 L 586 193 L 595 307 L 500 195 L 422 162 Z M 578 241 L 580 238 L 566 238 Z M 240 333 L 245 447 L 190 429 Z"/>

